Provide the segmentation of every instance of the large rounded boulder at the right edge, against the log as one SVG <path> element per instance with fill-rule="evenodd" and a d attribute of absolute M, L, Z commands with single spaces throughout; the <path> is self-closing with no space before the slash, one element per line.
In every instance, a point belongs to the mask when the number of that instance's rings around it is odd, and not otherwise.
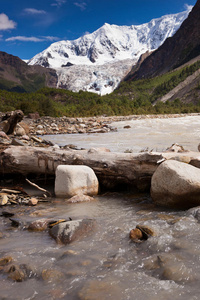
<path fill-rule="evenodd" d="M 151 197 L 166 207 L 200 205 L 200 169 L 175 160 L 163 162 L 152 176 Z"/>

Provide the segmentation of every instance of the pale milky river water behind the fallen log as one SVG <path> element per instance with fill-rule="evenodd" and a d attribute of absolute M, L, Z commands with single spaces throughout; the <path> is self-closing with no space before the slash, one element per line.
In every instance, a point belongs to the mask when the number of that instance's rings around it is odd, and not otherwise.
<path fill-rule="evenodd" d="M 118 132 L 107 134 L 49 135 L 47 139 L 59 145 L 74 144 L 78 147 L 107 147 L 111 151 L 133 152 L 141 150 L 163 151 L 173 143 L 187 150 L 197 151 L 200 137 L 200 115 L 168 119 L 141 119 L 112 123 Z M 125 129 L 129 125 L 131 128 Z"/>

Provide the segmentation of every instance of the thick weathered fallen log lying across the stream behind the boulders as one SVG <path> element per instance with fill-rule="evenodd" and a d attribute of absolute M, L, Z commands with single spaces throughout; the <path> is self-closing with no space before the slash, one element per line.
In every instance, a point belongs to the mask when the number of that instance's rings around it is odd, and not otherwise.
<path fill-rule="evenodd" d="M 8 146 L 0 150 L 0 174 L 20 173 L 54 175 L 58 165 L 86 165 L 106 188 L 150 187 L 151 177 L 165 159 L 176 159 L 200 167 L 198 152 L 186 153 L 113 153 L 95 149 L 61 150 L 39 147 Z"/>

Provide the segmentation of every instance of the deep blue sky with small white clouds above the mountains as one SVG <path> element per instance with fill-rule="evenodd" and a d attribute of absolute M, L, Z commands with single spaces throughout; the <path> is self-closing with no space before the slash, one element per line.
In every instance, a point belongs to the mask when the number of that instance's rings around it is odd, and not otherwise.
<path fill-rule="evenodd" d="M 196 0 L 0 0 L 0 51 L 30 59 L 59 40 L 104 23 L 138 25 L 184 11 Z"/>

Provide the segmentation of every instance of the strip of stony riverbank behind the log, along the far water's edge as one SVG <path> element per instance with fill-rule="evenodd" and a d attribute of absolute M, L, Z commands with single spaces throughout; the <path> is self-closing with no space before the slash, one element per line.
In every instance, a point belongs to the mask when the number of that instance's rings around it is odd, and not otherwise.
<path fill-rule="evenodd" d="M 7 113 L 8 114 L 8 113 Z M 15 130 L 5 137 L 5 122 L 0 122 L 0 144 L 18 146 L 53 146 L 44 135 L 57 134 L 93 134 L 108 133 L 117 131 L 112 124 L 120 121 L 142 120 L 142 119 L 169 119 L 184 118 L 185 116 L 196 116 L 199 114 L 173 114 L 173 115 L 130 115 L 130 116 L 98 116 L 88 118 L 68 118 L 68 117 L 40 117 L 38 113 L 23 116 L 23 120 L 17 122 Z M 5 114 L 0 113 L 3 119 Z M 7 124 L 6 124 L 7 126 Z M 128 125 L 125 128 L 130 128 Z M 4 133 L 3 133 L 4 132 Z M 39 137 L 40 136 L 40 137 Z M 74 145 L 70 145 L 74 147 Z"/>

